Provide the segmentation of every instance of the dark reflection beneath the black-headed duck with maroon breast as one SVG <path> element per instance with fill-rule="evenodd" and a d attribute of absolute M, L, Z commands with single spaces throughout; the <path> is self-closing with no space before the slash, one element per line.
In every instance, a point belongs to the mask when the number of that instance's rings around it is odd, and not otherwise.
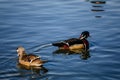
<path fill-rule="evenodd" d="M 80 58 L 83 60 L 87 60 L 90 58 L 89 51 L 86 51 L 84 49 L 76 49 L 76 50 L 56 50 L 53 52 L 53 54 L 65 54 L 65 55 L 73 55 L 73 54 L 79 54 Z"/>

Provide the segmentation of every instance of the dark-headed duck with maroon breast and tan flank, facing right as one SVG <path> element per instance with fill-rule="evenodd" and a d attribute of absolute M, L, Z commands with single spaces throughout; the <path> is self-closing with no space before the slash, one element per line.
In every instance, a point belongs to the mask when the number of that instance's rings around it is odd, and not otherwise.
<path fill-rule="evenodd" d="M 74 49 L 89 49 L 89 42 L 87 38 L 90 36 L 88 31 L 83 31 L 79 38 L 71 38 L 68 40 L 64 40 L 61 42 L 52 43 L 53 46 L 59 47 L 59 49 L 67 49 L 67 50 L 74 50 Z"/>

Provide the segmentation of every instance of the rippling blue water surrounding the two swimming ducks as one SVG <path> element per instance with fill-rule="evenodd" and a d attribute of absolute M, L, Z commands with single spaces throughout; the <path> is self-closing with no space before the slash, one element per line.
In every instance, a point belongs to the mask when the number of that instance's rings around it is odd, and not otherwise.
<path fill-rule="evenodd" d="M 94 1 L 0 0 L 0 80 L 119 80 L 120 1 Z M 87 59 L 45 47 L 84 30 L 91 34 Z M 21 68 L 18 46 L 48 63 L 40 70 Z"/>

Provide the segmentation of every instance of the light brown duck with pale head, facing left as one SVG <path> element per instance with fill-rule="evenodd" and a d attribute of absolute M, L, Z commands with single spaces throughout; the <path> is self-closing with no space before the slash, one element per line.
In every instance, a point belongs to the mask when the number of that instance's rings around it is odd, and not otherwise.
<path fill-rule="evenodd" d="M 27 54 L 22 46 L 17 48 L 17 53 L 19 56 L 19 63 L 24 66 L 40 67 L 46 62 L 40 60 L 40 57 L 37 55 Z"/>

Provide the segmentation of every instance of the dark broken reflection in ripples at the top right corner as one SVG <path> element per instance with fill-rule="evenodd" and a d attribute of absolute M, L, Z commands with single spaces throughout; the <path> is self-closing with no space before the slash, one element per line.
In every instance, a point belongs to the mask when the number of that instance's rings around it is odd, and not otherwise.
<path fill-rule="evenodd" d="M 100 1 L 100 0 L 96 0 L 96 1 L 90 1 L 90 3 L 92 3 L 92 12 L 102 12 L 105 11 L 104 10 L 104 4 L 106 4 L 106 1 Z M 96 15 L 96 18 L 101 18 L 101 15 Z"/>

